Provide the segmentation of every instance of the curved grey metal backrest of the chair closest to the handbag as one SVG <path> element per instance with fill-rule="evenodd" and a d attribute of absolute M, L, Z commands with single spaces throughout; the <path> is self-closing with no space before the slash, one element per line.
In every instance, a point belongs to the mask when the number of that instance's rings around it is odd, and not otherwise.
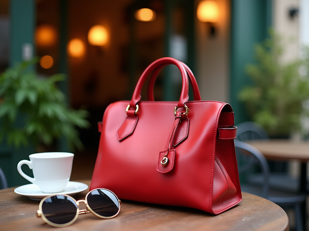
<path fill-rule="evenodd" d="M 269 165 L 265 156 L 255 147 L 245 142 L 235 140 L 235 150 L 237 156 L 245 156 L 243 160 L 248 160 L 247 163 L 238 164 L 238 172 L 242 173 L 249 168 L 252 168 L 253 165 L 259 165 L 263 175 L 263 188 L 262 188 L 262 197 L 268 197 L 269 191 Z"/>

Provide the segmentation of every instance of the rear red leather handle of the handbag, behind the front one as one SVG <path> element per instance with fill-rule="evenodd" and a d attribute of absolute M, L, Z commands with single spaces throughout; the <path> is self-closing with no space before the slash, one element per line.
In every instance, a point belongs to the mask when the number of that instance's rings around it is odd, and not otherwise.
<path fill-rule="evenodd" d="M 197 86 L 196 79 L 193 75 L 193 72 L 191 71 L 191 69 L 185 63 L 183 63 L 181 61 L 179 61 L 179 62 L 184 66 L 184 69 L 186 69 L 187 74 L 189 76 L 189 80 L 190 80 L 190 83 L 191 83 L 191 86 L 192 86 L 192 89 L 193 89 L 193 100 L 194 101 L 200 101 L 201 95 L 200 95 L 200 91 L 199 91 L 198 86 Z M 148 100 L 149 101 L 155 101 L 155 97 L 154 97 L 155 80 L 157 79 L 158 74 L 162 70 L 162 68 L 167 66 L 167 65 L 168 64 L 159 66 L 157 69 L 155 69 L 155 71 L 150 76 L 149 85 L 148 85 Z"/>

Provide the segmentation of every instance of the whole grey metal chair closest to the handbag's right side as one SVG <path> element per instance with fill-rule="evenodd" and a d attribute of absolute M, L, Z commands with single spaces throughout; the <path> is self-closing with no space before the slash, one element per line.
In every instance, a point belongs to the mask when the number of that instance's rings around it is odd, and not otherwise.
<path fill-rule="evenodd" d="M 264 197 L 270 201 L 273 201 L 277 205 L 286 208 L 293 208 L 295 211 L 296 230 L 303 230 L 303 219 L 301 213 L 301 204 L 305 202 L 305 194 L 285 193 L 278 190 L 269 188 L 269 165 L 265 156 L 255 147 L 250 144 L 244 143 L 239 140 L 235 140 L 236 155 L 249 157 L 247 163 L 239 164 L 239 174 L 246 172 L 248 169 L 252 169 L 254 166 L 260 166 L 260 170 L 263 176 L 262 186 L 243 183 L 241 189 L 244 192 L 252 193 L 261 197 Z"/>

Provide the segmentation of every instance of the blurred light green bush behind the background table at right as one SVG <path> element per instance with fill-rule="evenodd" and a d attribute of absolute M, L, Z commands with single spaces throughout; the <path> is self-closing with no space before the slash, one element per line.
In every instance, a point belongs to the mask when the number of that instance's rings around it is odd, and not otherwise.
<path fill-rule="evenodd" d="M 300 118 L 308 116 L 304 107 L 309 99 L 309 50 L 303 59 L 283 63 L 282 38 L 270 32 L 270 38 L 255 46 L 257 63 L 246 67 L 253 86 L 239 93 L 252 120 L 261 124 L 272 136 L 301 131 Z"/>

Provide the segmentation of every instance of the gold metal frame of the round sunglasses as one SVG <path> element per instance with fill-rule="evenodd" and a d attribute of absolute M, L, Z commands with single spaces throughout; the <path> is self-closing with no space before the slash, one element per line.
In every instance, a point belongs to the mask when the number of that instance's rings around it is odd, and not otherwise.
<path fill-rule="evenodd" d="M 107 190 L 107 191 L 111 192 L 111 193 L 117 198 L 117 201 L 118 201 L 118 203 L 119 203 L 119 209 L 118 209 L 118 212 L 117 212 L 115 215 L 113 215 L 112 217 L 104 217 L 104 216 L 101 216 L 101 215 L 95 213 L 95 212 L 89 207 L 88 202 L 87 202 L 87 197 L 88 197 L 89 193 L 91 193 L 92 191 L 97 190 L 97 189 L 104 189 L 104 190 Z M 95 188 L 95 189 L 92 189 L 91 191 L 89 191 L 89 193 L 87 193 L 87 195 L 86 195 L 86 197 L 85 197 L 85 200 L 78 200 L 78 201 L 76 201 L 73 197 L 70 197 L 69 195 L 66 195 L 66 194 L 53 194 L 53 195 L 49 195 L 49 196 L 47 196 L 47 197 L 44 197 L 44 198 L 40 201 L 39 210 L 36 211 L 36 215 L 37 215 L 37 217 L 42 217 L 43 221 L 45 221 L 47 224 L 52 225 L 52 226 L 54 226 L 54 227 L 65 227 L 65 226 L 71 225 L 71 224 L 73 224 L 73 223 L 76 221 L 76 219 L 77 219 L 77 217 L 78 217 L 78 214 L 82 214 L 82 213 L 90 213 L 90 212 L 91 212 L 91 213 L 93 213 L 95 216 L 101 217 L 101 218 L 105 218 L 105 219 L 113 218 L 113 217 L 116 217 L 116 216 L 118 215 L 118 213 L 120 212 L 121 201 L 118 199 L 118 197 L 116 196 L 115 193 L 113 193 L 111 190 L 108 190 L 108 189 L 106 189 L 106 188 Z M 44 201 L 45 201 L 46 199 L 48 199 L 49 197 L 53 197 L 53 196 L 66 196 L 66 197 L 70 197 L 70 198 L 76 203 L 76 205 L 77 205 L 76 215 L 75 215 L 75 217 L 74 217 L 74 219 L 73 219 L 72 221 L 70 221 L 70 222 L 68 222 L 68 223 L 65 223 L 65 224 L 56 224 L 56 223 L 53 223 L 53 222 L 49 221 L 49 220 L 45 217 L 44 213 L 42 212 L 42 205 L 43 205 L 43 203 L 44 203 Z M 81 209 L 81 210 L 79 210 L 79 207 L 78 207 L 78 206 L 79 206 L 79 203 L 80 203 L 80 202 L 84 202 L 87 209 Z"/>

